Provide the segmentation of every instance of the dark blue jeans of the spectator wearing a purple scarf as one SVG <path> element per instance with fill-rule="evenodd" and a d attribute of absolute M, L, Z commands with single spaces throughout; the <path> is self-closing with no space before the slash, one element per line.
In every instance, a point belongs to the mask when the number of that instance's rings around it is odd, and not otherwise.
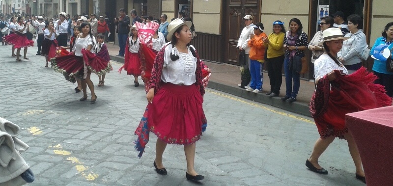
<path fill-rule="evenodd" d="M 303 56 L 301 56 L 303 57 Z M 293 72 L 293 68 L 289 69 L 289 56 L 285 55 L 284 59 L 284 72 L 285 72 L 285 96 L 293 97 L 296 99 L 296 95 L 299 92 L 300 88 L 300 74 Z M 293 89 L 292 89 L 292 80 L 293 80 Z"/>

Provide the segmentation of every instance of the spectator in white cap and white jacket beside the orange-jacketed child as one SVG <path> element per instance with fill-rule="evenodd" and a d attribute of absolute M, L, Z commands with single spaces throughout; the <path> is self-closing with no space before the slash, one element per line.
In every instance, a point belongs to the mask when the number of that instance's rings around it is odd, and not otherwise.
<path fill-rule="evenodd" d="M 241 84 L 238 84 L 240 88 L 249 88 L 249 83 L 251 81 L 250 75 L 250 48 L 248 46 L 248 41 L 250 39 L 250 33 L 253 31 L 253 16 L 246 15 L 244 16 L 244 24 L 246 27 L 243 28 L 242 33 L 240 34 L 239 40 L 237 41 L 237 49 L 240 51 L 239 62 L 241 63 L 244 71 L 241 73 Z M 241 60 L 240 60 L 241 59 Z"/>

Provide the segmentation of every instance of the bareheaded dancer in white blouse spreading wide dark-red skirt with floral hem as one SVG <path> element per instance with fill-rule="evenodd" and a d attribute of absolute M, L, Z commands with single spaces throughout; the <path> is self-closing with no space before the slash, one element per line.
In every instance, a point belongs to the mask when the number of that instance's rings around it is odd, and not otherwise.
<path fill-rule="evenodd" d="M 97 100 L 97 96 L 90 75 L 92 72 L 96 75 L 108 73 L 112 70 L 112 66 L 109 61 L 90 52 L 96 43 L 94 36 L 91 34 L 90 24 L 83 23 L 81 29 L 82 33 L 76 38 L 74 50 L 68 55 L 52 58 L 51 64 L 52 68 L 56 72 L 62 73 L 68 81 L 74 83 L 76 81 L 75 77 L 81 78 L 83 97 L 80 101 L 87 100 L 86 89 L 88 86 L 91 91 L 90 103 L 93 104 Z"/>

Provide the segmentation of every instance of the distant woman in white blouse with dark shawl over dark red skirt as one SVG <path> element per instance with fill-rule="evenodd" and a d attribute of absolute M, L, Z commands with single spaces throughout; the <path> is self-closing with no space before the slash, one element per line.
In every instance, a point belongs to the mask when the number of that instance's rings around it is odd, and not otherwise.
<path fill-rule="evenodd" d="M 42 43 L 42 54 L 45 55 L 46 65 L 48 67 L 49 59 L 55 57 L 57 47 L 57 33 L 53 22 L 48 22 L 47 28 L 44 30 L 44 42 Z"/>

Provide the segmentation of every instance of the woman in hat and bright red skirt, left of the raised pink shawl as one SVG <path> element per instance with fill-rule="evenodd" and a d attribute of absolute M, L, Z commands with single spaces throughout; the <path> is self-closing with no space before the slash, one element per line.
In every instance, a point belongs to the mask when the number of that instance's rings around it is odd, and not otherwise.
<path fill-rule="evenodd" d="M 139 86 L 138 77 L 140 76 L 140 58 L 139 58 L 139 39 L 138 30 L 134 26 L 131 27 L 132 35 L 127 38 L 126 50 L 124 56 L 124 65 L 120 67 L 118 72 L 121 70 L 127 71 L 127 75 L 134 76 L 134 86 Z M 127 50 L 128 49 L 128 50 Z"/>

